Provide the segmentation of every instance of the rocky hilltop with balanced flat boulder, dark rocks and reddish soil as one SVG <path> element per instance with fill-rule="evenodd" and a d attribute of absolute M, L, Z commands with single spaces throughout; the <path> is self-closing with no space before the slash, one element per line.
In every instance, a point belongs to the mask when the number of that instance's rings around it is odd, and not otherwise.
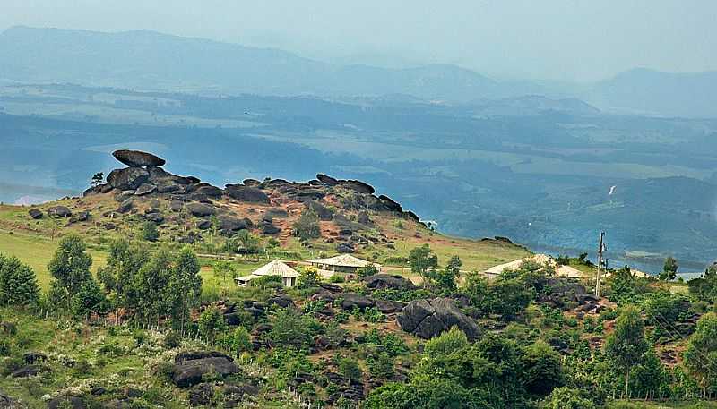
<path fill-rule="evenodd" d="M 249 229 L 286 241 L 293 222 L 311 209 L 321 220 L 324 242 L 346 253 L 369 243 L 391 247 L 391 240 L 376 228 L 376 217 L 425 227 L 416 214 L 358 180 L 319 174 L 308 182 L 246 179 L 221 188 L 194 176 L 172 175 L 162 168 L 167 161 L 149 152 L 121 149 L 113 156 L 126 167 L 112 170 L 103 183 L 87 189 L 77 209 L 53 206 L 46 209 L 48 216 L 65 218 L 67 225 L 73 225 L 91 222 L 95 214 L 96 226 L 112 230 L 117 220 L 137 215 L 174 232 L 174 240 L 182 243 L 203 240 L 204 232 L 212 228 L 229 235 Z M 82 207 L 96 197 L 111 197 L 116 207 Z M 30 216 L 37 219 L 43 213 L 30 209 Z"/>

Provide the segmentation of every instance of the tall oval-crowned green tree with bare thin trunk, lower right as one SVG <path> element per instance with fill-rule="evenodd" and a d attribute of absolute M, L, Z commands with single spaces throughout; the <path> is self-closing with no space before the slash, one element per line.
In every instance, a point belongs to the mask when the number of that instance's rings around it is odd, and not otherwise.
<path fill-rule="evenodd" d="M 625 395 L 629 395 L 630 371 L 643 362 L 647 351 L 644 339 L 644 321 L 634 305 L 628 305 L 620 311 L 615 323 L 615 331 L 605 340 L 604 352 L 610 362 L 625 371 Z"/>

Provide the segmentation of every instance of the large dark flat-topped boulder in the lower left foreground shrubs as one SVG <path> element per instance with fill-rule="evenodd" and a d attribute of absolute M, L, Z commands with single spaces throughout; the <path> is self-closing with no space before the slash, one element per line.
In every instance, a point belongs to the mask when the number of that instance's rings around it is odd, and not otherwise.
<path fill-rule="evenodd" d="M 175 357 L 172 380 L 179 388 L 188 388 L 202 382 L 206 373 L 216 373 L 222 377 L 238 373 L 234 360 L 218 352 L 190 352 Z"/>

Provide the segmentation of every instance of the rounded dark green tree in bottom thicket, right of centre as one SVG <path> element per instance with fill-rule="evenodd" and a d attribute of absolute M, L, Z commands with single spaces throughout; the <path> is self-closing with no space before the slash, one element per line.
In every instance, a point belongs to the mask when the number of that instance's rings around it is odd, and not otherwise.
<path fill-rule="evenodd" d="M 525 348 L 522 360 L 523 383 L 531 394 L 547 396 L 554 388 L 565 385 L 560 354 L 544 341 Z"/>

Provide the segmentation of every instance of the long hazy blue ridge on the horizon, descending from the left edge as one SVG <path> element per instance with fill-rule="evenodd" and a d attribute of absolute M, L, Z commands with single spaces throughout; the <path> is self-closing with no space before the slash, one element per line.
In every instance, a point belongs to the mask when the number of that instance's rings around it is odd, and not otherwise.
<path fill-rule="evenodd" d="M 0 34 L 0 77 L 138 89 L 470 100 L 497 82 L 454 65 L 385 69 L 154 31 L 13 27 Z"/>

